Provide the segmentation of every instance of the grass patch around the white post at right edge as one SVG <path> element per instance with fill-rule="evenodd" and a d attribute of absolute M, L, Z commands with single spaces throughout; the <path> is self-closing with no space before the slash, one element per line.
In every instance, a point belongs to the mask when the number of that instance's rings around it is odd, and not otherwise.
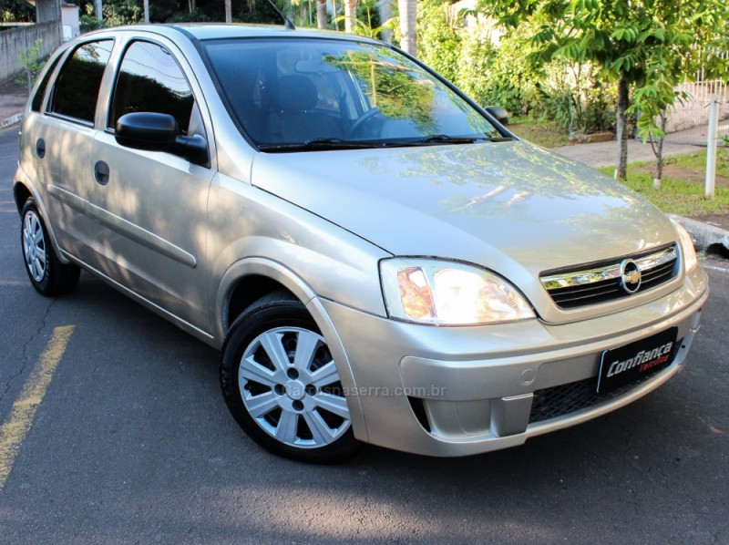
<path fill-rule="evenodd" d="M 729 149 L 718 149 L 714 200 L 703 197 L 703 177 L 706 172 L 706 150 L 690 155 L 676 155 L 666 159 L 663 187 L 653 188 L 652 162 L 628 165 L 625 184 L 636 190 L 664 212 L 682 216 L 729 213 Z M 602 167 L 601 172 L 611 176 L 614 167 Z"/>

